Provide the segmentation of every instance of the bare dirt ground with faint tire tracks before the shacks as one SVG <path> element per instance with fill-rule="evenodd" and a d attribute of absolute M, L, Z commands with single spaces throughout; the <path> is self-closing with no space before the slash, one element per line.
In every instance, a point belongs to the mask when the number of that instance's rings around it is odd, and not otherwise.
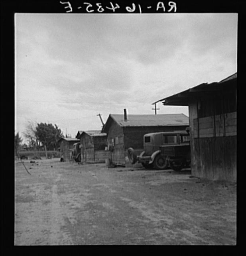
<path fill-rule="evenodd" d="M 190 170 L 16 161 L 15 245 L 235 245 L 236 184 Z"/>

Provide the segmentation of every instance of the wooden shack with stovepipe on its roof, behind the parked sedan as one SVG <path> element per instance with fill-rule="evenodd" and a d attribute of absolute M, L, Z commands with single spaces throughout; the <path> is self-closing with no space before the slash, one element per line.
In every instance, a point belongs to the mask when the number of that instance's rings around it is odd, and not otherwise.
<path fill-rule="evenodd" d="M 151 132 L 184 130 L 189 118 L 184 114 L 127 115 L 110 114 L 102 128 L 107 133 L 108 158 L 112 164 L 126 165 L 127 149 L 143 150 L 143 136 Z"/>

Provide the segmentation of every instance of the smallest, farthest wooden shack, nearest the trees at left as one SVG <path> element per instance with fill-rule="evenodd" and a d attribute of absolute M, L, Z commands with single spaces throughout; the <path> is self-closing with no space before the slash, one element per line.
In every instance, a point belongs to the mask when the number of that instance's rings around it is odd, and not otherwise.
<path fill-rule="evenodd" d="M 72 158 L 73 144 L 79 142 L 75 138 L 60 138 L 58 143 L 60 144 L 60 156 L 64 162 L 74 161 Z"/>

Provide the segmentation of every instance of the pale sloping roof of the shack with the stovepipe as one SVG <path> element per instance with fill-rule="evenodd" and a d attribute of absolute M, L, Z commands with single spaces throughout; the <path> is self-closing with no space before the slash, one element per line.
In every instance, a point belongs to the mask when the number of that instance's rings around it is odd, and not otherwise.
<path fill-rule="evenodd" d="M 189 125 L 189 118 L 185 114 L 157 114 L 157 115 L 127 115 L 110 114 L 120 126 L 178 126 Z"/>

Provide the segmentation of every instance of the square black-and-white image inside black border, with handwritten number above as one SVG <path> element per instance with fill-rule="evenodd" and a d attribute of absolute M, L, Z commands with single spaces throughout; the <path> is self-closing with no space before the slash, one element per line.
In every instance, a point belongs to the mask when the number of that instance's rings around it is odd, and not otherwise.
<path fill-rule="evenodd" d="M 101 2 L 14 14 L 14 246 L 235 246 L 238 14 Z"/>

